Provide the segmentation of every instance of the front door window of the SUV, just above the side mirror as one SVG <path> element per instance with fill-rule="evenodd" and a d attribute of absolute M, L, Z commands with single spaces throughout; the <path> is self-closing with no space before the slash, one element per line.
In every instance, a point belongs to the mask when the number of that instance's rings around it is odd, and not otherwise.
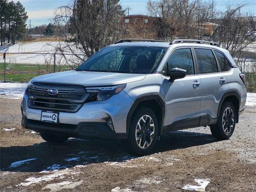
<path fill-rule="evenodd" d="M 178 49 L 172 53 L 168 60 L 169 70 L 180 68 L 187 71 L 187 75 L 194 74 L 194 65 L 190 48 Z"/>

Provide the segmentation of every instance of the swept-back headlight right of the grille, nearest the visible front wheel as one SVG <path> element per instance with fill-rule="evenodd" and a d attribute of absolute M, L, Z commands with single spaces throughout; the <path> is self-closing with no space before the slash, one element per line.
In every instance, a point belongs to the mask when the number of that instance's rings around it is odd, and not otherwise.
<path fill-rule="evenodd" d="M 88 87 L 85 88 L 85 90 L 88 93 L 97 93 L 97 101 L 104 101 L 108 100 L 113 95 L 120 93 L 125 87 L 126 84 L 121 84 L 110 87 Z"/>

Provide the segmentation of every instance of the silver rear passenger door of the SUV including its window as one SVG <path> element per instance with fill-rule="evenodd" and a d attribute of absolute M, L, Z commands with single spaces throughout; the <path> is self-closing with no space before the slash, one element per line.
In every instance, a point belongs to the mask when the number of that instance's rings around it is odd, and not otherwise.
<path fill-rule="evenodd" d="M 197 72 L 202 85 L 200 126 L 217 118 L 218 104 L 223 93 L 229 90 L 225 72 L 221 72 L 214 50 L 193 48 L 197 62 Z"/>

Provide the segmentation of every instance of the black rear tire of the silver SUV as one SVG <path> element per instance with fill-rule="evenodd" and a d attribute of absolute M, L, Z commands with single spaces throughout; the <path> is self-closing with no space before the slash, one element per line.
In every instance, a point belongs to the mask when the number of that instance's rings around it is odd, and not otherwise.
<path fill-rule="evenodd" d="M 231 123 L 232 120 L 226 120 L 225 117 L 224 117 L 225 116 L 224 112 L 225 112 L 226 109 L 228 110 L 228 108 L 232 109 L 233 116 L 234 116 L 234 122 L 233 122 L 232 128 L 231 128 L 231 126 L 229 126 L 229 125 L 232 124 Z M 231 113 L 228 116 L 231 116 Z M 224 127 L 222 126 L 222 122 L 224 123 Z M 229 101 L 224 102 L 222 104 L 221 108 L 220 108 L 220 114 L 219 114 L 219 117 L 218 117 L 217 124 L 210 126 L 210 130 L 212 132 L 212 135 L 218 140 L 226 140 L 226 139 L 228 139 L 232 136 L 232 134 L 235 130 L 235 126 L 236 126 L 236 109 L 235 109 L 234 105 L 231 102 L 229 102 Z M 227 131 L 225 132 L 226 129 L 227 129 Z"/>

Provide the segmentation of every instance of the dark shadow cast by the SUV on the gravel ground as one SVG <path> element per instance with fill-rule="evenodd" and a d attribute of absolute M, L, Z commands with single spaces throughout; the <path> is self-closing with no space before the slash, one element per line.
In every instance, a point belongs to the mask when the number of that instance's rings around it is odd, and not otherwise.
<path fill-rule="evenodd" d="M 189 148 L 216 142 L 211 134 L 175 131 L 161 136 L 151 154 Z M 126 162 L 136 159 L 124 152 L 118 141 L 69 139 L 62 144 L 42 142 L 29 146 L 10 146 L 0 148 L 1 171 L 41 172 L 55 168 L 70 168 L 103 162 Z M 34 159 L 36 158 L 36 159 Z M 13 162 L 34 159 L 17 167 Z"/>

